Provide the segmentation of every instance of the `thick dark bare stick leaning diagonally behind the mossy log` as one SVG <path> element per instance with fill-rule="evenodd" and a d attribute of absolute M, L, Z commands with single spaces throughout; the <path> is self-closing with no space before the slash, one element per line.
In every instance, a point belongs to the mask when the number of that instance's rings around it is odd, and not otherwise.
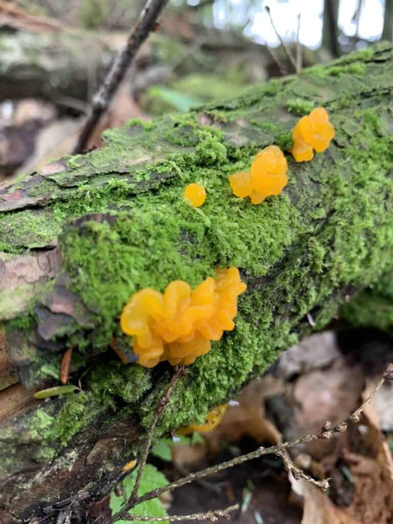
<path fill-rule="evenodd" d="M 147 0 L 134 30 L 127 39 L 126 45 L 119 51 L 101 89 L 93 96 L 91 113 L 82 129 L 78 144 L 73 151 L 74 154 L 83 152 L 88 145 L 94 129 L 110 105 L 118 86 L 124 80 L 137 51 L 150 32 L 155 29 L 156 20 L 167 2 L 168 0 Z"/>

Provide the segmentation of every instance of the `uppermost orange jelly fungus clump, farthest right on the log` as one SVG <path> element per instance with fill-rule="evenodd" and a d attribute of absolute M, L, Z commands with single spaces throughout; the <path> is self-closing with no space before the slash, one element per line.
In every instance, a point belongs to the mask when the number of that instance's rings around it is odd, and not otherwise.
<path fill-rule="evenodd" d="M 314 151 L 321 153 L 329 147 L 334 137 L 334 127 L 329 122 L 328 112 L 317 107 L 307 116 L 300 118 L 293 129 L 292 155 L 297 162 L 311 160 Z"/>

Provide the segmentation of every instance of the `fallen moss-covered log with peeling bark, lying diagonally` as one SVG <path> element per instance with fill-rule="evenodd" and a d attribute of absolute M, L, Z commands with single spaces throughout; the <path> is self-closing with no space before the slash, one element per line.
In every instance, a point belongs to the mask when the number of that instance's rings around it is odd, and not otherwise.
<path fill-rule="evenodd" d="M 125 366 L 108 350 L 114 336 L 128 343 L 118 318 L 135 290 L 195 286 L 217 266 L 239 267 L 248 285 L 235 330 L 181 378 L 159 435 L 203 419 L 308 334 L 310 315 L 321 328 L 391 271 L 392 93 L 393 50 L 380 45 L 235 100 L 129 122 L 104 148 L 0 192 L 2 522 L 56 522 L 69 504 L 75 519 L 88 514 L 137 451 L 171 367 Z M 280 196 L 236 198 L 228 175 L 264 146 L 290 149 L 298 118 L 320 105 L 336 129 L 329 149 L 304 163 L 288 154 Z M 182 199 L 189 182 L 206 188 L 200 209 Z M 81 390 L 34 399 L 60 384 L 71 346 Z"/>

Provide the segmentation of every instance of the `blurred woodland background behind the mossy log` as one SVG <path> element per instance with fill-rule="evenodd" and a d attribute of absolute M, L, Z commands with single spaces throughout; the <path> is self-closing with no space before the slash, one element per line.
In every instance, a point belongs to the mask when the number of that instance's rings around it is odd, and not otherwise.
<path fill-rule="evenodd" d="M 69 152 L 144 3 L 0 0 L 0 177 Z M 90 145 L 100 147 L 102 130 L 128 118 L 232 99 L 293 73 L 280 38 L 308 67 L 391 41 L 392 29 L 393 0 L 169 0 Z M 34 104 L 26 105 L 27 97 Z M 59 119 L 62 125 L 40 140 Z"/>

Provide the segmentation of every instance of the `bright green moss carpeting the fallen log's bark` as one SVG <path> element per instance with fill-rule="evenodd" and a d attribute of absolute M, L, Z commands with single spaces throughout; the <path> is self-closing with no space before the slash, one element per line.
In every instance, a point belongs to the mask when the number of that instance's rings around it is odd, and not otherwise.
<path fill-rule="evenodd" d="M 370 60 L 365 67 L 361 78 L 356 71 L 350 76 L 349 69 L 338 75 L 315 69 L 257 86 L 237 100 L 203 108 L 203 114 L 219 112 L 214 126 L 198 124 L 200 113 L 193 111 L 147 129 L 134 123 L 108 132 L 106 148 L 85 155 L 82 167 L 54 177 L 58 184 L 79 184 L 67 201 L 54 206 L 57 227 L 86 212 L 114 217 L 111 224 L 71 224 L 59 241 L 70 288 L 95 315 L 94 330 L 77 328 L 72 334 L 86 354 L 106 351 L 118 332 L 122 308 L 136 290 L 163 291 L 174 279 L 195 286 L 217 266 L 242 269 L 248 290 L 239 299 L 236 329 L 190 366 L 158 432 L 202 420 L 212 406 L 230 398 L 307 333 L 308 312 L 322 327 L 337 310 L 339 290 L 373 285 L 389 270 L 393 116 L 387 107 L 392 65 Z M 351 78 L 351 92 L 343 89 L 341 73 Z M 288 105 L 293 100 L 296 104 Z M 289 149 L 299 114 L 317 104 L 328 108 L 336 129 L 329 149 L 312 162 L 296 163 L 288 156 L 289 183 L 282 195 L 259 206 L 236 198 L 228 175 L 248 169 L 261 147 L 276 143 Z M 206 188 L 208 198 L 200 209 L 182 199 L 189 182 Z M 69 411 L 75 409 L 86 423 L 89 402 L 101 402 L 104 409 L 119 398 L 143 399 L 137 409 L 147 426 L 169 374 L 154 372 L 161 380 L 149 392 L 155 384 L 150 384 L 150 372 L 135 365 L 106 368 L 94 367 L 88 390 Z M 137 397 L 134 380 L 140 385 Z M 60 428 L 52 432 L 51 421 L 45 434 L 64 442 L 83 426 L 67 427 L 66 417 L 63 423 L 64 433 Z"/>

